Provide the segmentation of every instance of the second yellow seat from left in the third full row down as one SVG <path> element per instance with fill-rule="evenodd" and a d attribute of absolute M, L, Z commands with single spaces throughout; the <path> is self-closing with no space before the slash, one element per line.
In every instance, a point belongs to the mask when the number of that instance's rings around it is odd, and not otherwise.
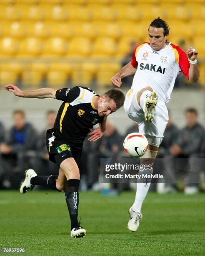
<path fill-rule="evenodd" d="M 18 57 L 20 58 L 32 58 L 39 56 L 43 49 L 43 42 L 39 38 L 27 37 L 20 44 L 20 50 Z"/>

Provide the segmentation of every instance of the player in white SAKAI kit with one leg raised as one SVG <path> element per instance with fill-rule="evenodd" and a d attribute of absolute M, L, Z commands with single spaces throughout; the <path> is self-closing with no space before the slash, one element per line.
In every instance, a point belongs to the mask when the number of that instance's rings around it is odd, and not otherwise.
<path fill-rule="evenodd" d="M 139 133 L 148 139 L 148 150 L 140 164 L 153 163 L 156 158 L 168 123 L 166 103 L 170 100 L 178 72 L 183 72 L 191 82 L 199 79 L 198 52 L 192 47 L 183 51 L 168 42 L 168 35 L 168 24 L 160 18 L 153 20 L 148 29 L 150 42 L 136 46 L 132 60 L 111 79 L 112 84 L 120 87 L 123 77 L 135 74 L 124 108 L 129 118 L 138 123 Z M 152 174 L 153 169 L 143 170 L 143 173 Z M 135 202 L 129 210 L 128 229 L 131 231 L 138 229 L 142 219 L 141 207 L 150 182 L 151 179 L 138 179 Z"/>

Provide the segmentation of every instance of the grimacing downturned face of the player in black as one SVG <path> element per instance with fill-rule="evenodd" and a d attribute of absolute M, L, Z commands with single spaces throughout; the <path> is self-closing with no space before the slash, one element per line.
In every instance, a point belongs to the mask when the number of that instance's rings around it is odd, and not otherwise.
<path fill-rule="evenodd" d="M 100 116 L 110 115 L 117 110 L 114 100 L 107 99 L 105 95 L 100 97 L 97 107 Z"/>

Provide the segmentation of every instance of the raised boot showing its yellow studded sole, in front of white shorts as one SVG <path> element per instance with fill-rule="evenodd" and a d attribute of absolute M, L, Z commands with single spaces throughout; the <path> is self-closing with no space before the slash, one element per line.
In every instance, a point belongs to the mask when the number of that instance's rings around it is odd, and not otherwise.
<path fill-rule="evenodd" d="M 151 92 L 150 96 L 147 98 L 145 102 L 145 121 L 152 122 L 155 113 L 155 107 L 158 103 L 158 95 L 157 92 Z"/>

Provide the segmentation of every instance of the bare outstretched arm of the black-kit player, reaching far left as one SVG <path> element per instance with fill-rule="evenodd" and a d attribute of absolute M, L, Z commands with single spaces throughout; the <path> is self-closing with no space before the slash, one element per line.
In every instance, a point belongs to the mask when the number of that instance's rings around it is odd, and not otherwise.
<path fill-rule="evenodd" d="M 56 90 L 52 89 L 52 88 L 41 88 L 41 89 L 34 90 L 34 91 L 24 92 L 13 84 L 7 84 L 5 86 L 5 89 L 8 90 L 9 92 L 13 92 L 14 95 L 16 95 L 18 97 L 25 97 L 25 98 L 40 98 L 40 99 L 53 98 L 53 99 L 55 99 L 55 93 L 56 93 Z"/>

